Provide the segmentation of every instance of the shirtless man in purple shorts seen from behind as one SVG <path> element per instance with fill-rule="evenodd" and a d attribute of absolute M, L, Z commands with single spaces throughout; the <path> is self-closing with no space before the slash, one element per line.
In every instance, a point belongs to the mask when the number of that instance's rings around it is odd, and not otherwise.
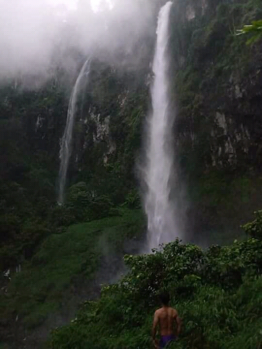
<path fill-rule="evenodd" d="M 163 293 L 160 296 L 162 308 L 155 311 L 152 338 L 156 349 L 163 349 L 167 343 L 176 340 L 181 331 L 181 320 L 176 309 L 171 308 L 169 304 L 169 294 Z M 176 332 L 174 333 L 174 324 L 176 323 Z M 161 335 L 160 341 L 156 339 L 157 326 Z"/>

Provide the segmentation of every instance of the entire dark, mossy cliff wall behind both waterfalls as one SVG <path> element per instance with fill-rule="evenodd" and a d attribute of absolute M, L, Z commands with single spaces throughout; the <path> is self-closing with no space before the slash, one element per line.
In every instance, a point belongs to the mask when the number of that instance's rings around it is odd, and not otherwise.
<path fill-rule="evenodd" d="M 163 3 L 156 1 L 155 27 Z M 176 114 L 172 127 L 176 168 L 187 188 L 187 230 L 192 235 L 229 224 L 237 227 L 261 205 L 262 45 L 246 46 L 247 37 L 235 35 L 236 29 L 257 18 L 262 18 L 259 0 L 173 3 L 168 52 L 171 112 Z M 138 199 L 135 162 L 151 108 L 150 62 L 156 39 L 153 30 L 143 35 L 130 52 L 118 50 L 107 63 L 93 60 L 78 101 L 67 186 L 84 182 L 87 190 L 109 196 L 114 205 Z M 79 51 L 71 54 L 79 71 L 84 57 Z M 39 181 L 39 172 L 48 168 L 53 202 L 59 139 L 77 78 L 66 74 L 54 69 L 54 78 L 37 91 L 16 83 L 0 91 L 2 138 L 9 144 L 2 145 L 0 175 L 25 185 L 25 176 Z M 42 182 L 46 185 L 45 178 Z"/>

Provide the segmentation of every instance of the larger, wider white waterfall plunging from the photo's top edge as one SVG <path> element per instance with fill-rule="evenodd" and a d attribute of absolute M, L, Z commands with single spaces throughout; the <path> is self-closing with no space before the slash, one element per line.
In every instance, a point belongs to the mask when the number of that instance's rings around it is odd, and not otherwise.
<path fill-rule="evenodd" d="M 151 88 L 152 115 L 148 125 L 147 167 L 145 179 L 147 194 L 147 247 L 151 250 L 176 237 L 172 204 L 169 201 L 170 174 L 173 161 L 171 129 L 168 116 L 167 44 L 169 15 L 172 2 L 160 10 L 157 26 L 157 42 L 153 62 L 154 82 Z M 171 125 L 170 125 L 171 123 Z"/>

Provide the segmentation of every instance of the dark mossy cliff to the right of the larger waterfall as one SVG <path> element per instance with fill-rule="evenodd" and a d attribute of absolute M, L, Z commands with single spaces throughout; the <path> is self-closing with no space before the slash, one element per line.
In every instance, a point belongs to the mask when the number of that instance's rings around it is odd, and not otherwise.
<path fill-rule="evenodd" d="M 262 45 L 235 35 L 260 17 L 255 0 L 173 6 L 175 147 L 195 231 L 237 227 L 261 205 Z"/>

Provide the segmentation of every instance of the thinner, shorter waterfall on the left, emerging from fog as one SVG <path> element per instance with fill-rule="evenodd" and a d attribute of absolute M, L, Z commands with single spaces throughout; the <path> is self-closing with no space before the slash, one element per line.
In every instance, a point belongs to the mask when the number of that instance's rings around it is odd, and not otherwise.
<path fill-rule="evenodd" d="M 71 155 L 71 141 L 72 141 L 72 132 L 75 120 L 75 113 L 77 110 L 77 97 L 82 88 L 82 78 L 85 76 L 85 80 L 88 77 L 90 70 L 91 59 L 88 58 L 87 61 L 82 66 L 81 72 L 76 80 L 75 86 L 71 93 L 67 118 L 66 118 L 66 128 L 64 135 L 61 140 L 61 148 L 59 153 L 60 158 L 60 169 L 59 169 L 59 194 L 58 194 L 58 203 L 60 205 L 64 202 L 64 191 L 66 186 L 66 173 L 68 168 L 68 163 Z"/>

